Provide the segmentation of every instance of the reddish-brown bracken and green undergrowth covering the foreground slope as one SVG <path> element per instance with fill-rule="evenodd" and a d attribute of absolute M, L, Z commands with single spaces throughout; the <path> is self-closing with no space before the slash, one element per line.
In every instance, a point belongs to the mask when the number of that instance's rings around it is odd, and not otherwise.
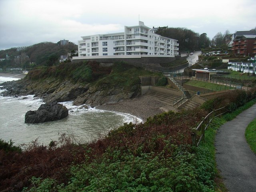
<path fill-rule="evenodd" d="M 22 152 L 1 148 L 0 190 L 214 192 L 213 140 L 192 154 L 191 129 L 213 108 L 228 105 L 232 112 L 255 93 L 255 88 L 235 90 L 194 110 L 124 124 L 90 143 L 72 143 L 62 135 L 49 146 L 35 141 Z"/>

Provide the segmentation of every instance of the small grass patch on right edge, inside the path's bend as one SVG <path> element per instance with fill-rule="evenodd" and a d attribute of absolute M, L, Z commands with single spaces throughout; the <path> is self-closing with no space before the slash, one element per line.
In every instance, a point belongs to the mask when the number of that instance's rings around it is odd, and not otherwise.
<path fill-rule="evenodd" d="M 256 118 L 246 128 L 245 138 L 252 151 L 256 154 Z"/>

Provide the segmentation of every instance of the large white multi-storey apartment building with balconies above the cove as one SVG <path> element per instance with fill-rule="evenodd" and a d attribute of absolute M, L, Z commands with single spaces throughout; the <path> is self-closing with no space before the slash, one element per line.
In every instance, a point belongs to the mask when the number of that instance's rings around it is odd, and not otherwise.
<path fill-rule="evenodd" d="M 94 56 L 138 56 L 178 55 L 178 40 L 150 32 L 150 28 L 139 21 L 138 26 L 124 26 L 124 32 L 82 36 L 78 41 L 78 57 Z"/>

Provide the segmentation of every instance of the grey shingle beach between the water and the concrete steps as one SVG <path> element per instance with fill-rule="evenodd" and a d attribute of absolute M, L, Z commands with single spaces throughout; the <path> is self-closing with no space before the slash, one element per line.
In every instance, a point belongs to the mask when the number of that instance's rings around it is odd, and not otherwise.
<path fill-rule="evenodd" d="M 160 109 L 162 106 L 164 106 L 164 104 L 157 100 L 148 96 L 140 96 L 116 104 L 102 105 L 97 107 L 97 109 L 128 113 L 145 121 L 150 116 L 162 113 L 163 111 Z"/>

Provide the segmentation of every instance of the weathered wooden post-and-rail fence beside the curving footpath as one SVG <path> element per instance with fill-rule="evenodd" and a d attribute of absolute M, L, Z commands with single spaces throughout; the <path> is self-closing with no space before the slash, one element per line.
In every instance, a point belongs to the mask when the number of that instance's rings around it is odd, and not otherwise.
<path fill-rule="evenodd" d="M 204 140 L 204 133 L 205 133 L 205 130 L 208 128 L 210 122 L 212 122 L 212 120 L 214 118 L 216 118 L 226 112 L 227 112 L 226 107 L 222 107 L 217 110 L 213 110 L 206 117 L 202 118 L 202 121 L 197 126 L 197 128 L 192 129 L 191 138 L 192 138 L 192 146 L 193 146 L 192 150 L 194 153 L 196 152 L 196 148 L 198 147 L 200 142 L 202 140 Z"/>

